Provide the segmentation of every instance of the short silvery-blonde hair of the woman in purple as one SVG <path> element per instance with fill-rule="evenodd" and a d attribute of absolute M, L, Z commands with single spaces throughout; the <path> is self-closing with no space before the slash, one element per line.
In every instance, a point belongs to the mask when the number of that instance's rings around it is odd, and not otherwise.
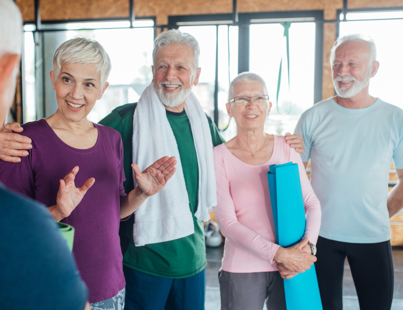
<path fill-rule="evenodd" d="M 53 82 L 58 78 L 63 64 L 95 64 L 100 72 L 101 87 L 108 79 L 112 64 L 102 45 L 95 40 L 77 36 L 62 43 L 53 56 Z"/>

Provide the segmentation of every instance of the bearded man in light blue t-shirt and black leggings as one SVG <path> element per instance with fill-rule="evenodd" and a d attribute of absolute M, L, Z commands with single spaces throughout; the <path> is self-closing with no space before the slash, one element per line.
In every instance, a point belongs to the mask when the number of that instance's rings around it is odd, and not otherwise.
<path fill-rule="evenodd" d="M 324 310 L 342 309 L 347 257 L 360 308 L 390 309 L 389 217 L 403 207 L 403 185 L 388 196 L 388 178 L 393 159 L 403 181 L 403 110 L 369 94 L 379 68 L 371 38 L 339 37 L 331 64 L 337 96 L 305 111 L 295 129 L 322 207 L 315 264 L 320 295 Z"/>

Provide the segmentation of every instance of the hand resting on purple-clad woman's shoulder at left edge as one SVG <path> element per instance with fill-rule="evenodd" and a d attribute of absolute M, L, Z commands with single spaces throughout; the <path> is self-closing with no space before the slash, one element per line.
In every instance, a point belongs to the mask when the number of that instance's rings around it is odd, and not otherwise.
<path fill-rule="evenodd" d="M 31 139 L 15 134 L 24 130 L 19 123 L 7 123 L 0 128 L 0 159 L 9 162 L 20 162 L 32 149 Z"/>

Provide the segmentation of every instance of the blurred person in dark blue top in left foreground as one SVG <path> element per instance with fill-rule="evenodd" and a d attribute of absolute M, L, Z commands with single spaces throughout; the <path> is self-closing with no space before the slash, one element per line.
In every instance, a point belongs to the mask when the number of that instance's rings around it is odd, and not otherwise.
<path fill-rule="evenodd" d="M 0 0 L 0 124 L 14 98 L 22 37 L 16 4 Z M 89 309 L 87 288 L 52 216 L 1 183 L 0 236 L 3 309 Z"/>

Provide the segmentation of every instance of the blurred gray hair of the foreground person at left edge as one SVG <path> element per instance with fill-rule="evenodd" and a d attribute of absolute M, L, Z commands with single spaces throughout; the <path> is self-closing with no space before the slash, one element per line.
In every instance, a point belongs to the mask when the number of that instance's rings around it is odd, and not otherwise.
<path fill-rule="evenodd" d="M 21 55 L 22 17 L 12 0 L 0 0 L 0 57 L 4 54 Z"/>

